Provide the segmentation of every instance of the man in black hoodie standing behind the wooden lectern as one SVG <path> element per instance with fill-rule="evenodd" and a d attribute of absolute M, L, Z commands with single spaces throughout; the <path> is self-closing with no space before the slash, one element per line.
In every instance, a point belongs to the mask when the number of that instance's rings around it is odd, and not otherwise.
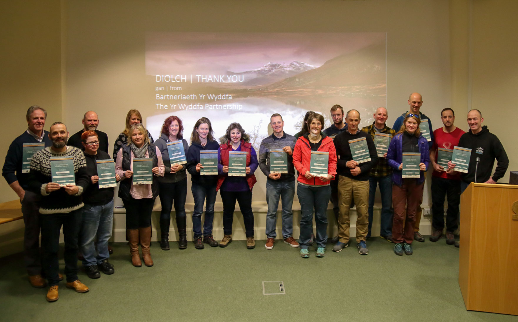
<path fill-rule="evenodd" d="M 498 137 L 490 133 L 485 125 L 482 126 L 483 121 L 482 113 L 478 109 L 470 110 L 468 112 L 469 131 L 464 133 L 458 142 L 458 146 L 471 149 L 468 173 L 461 174 L 461 193 L 472 182 L 496 184 L 496 181 L 506 174 L 507 167 L 509 166 L 506 150 Z M 496 170 L 493 176 L 491 176 L 495 158 L 497 161 Z M 449 170 L 452 170 L 454 167 L 455 164 L 452 161 L 448 162 Z M 476 173 L 475 169 L 477 169 Z"/>

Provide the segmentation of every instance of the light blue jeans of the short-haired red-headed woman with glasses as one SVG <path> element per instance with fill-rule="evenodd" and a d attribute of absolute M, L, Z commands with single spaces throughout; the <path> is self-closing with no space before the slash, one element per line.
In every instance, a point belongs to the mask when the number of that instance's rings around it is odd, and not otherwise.
<path fill-rule="evenodd" d="M 102 206 L 85 204 L 82 208 L 80 249 L 83 253 L 83 266 L 100 264 L 110 258 L 108 240 L 113 225 L 113 200 Z M 97 254 L 95 252 L 97 236 Z"/>

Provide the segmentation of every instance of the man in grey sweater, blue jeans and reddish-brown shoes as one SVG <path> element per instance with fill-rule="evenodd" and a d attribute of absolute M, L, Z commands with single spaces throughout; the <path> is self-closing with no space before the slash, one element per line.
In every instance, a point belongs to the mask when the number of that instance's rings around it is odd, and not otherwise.
<path fill-rule="evenodd" d="M 284 243 L 298 247 L 299 244 L 293 238 L 293 197 L 295 195 L 295 169 L 293 167 L 293 149 L 297 139 L 295 136 L 284 133 L 284 121 L 282 116 L 274 114 L 270 117 L 270 127 L 274 130 L 271 136 L 261 142 L 259 148 L 259 167 L 268 177 L 266 179 L 266 202 L 268 213 L 266 214 L 266 249 L 274 248 L 277 208 L 279 198 L 282 198 L 282 238 Z M 287 154 L 287 173 L 271 171 L 270 151 L 282 150 Z M 282 153 L 282 152 L 281 152 Z M 284 171 L 283 171 L 284 172 Z"/>

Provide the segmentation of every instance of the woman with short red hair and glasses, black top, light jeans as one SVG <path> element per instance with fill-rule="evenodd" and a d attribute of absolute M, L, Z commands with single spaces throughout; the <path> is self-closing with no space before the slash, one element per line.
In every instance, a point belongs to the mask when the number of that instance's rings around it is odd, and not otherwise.
<path fill-rule="evenodd" d="M 111 237 L 113 223 L 113 190 L 114 188 L 99 188 L 98 160 L 111 160 L 110 155 L 99 150 L 99 137 L 94 131 L 81 134 L 84 147 L 84 158 L 87 160 L 87 173 L 90 185 L 83 191 L 84 206 L 82 210 L 79 246 L 83 254 L 83 267 L 90 278 L 99 278 L 99 270 L 105 274 L 113 274 L 113 265 L 108 262 L 108 240 Z M 114 174 L 114 181 L 119 181 Z M 97 251 L 95 240 L 97 237 Z"/>

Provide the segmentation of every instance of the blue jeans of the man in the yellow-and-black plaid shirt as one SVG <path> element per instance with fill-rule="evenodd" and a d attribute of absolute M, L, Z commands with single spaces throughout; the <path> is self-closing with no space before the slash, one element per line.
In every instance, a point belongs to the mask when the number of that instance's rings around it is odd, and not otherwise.
<path fill-rule="evenodd" d="M 372 228 L 372 212 L 378 183 L 381 193 L 380 234 L 383 236 L 392 235 L 392 176 L 369 176 L 369 232 L 367 233 L 367 237 L 370 237 L 370 230 Z"/>

